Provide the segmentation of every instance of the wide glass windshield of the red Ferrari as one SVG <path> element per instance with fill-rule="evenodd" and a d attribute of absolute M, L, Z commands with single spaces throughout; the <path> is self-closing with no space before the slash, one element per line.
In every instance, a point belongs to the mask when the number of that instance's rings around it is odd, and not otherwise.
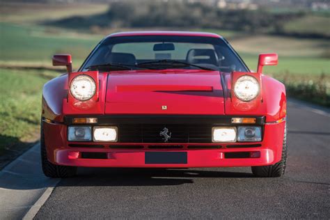
<path fill-rule="evenodd" d="M 173 61 L 182 63 L 178 65 Z M 222 72 L 249 71 L 223 39 L 198 36 L 107 38 L 87 58 L 81 69 L 86 71 L 102 66 L 103 70 L 110 68 L 110 65 L 111 70 L 200 68 Z"/>

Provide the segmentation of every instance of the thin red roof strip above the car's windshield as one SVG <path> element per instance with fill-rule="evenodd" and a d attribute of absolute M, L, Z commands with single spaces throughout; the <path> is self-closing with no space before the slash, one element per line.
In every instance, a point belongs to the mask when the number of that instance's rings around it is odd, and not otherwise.
<path fill-rule="evenodd" d="M 107 38 L 125 37 L 125 36 L 197 36 L 197 37 L 210 37 L 221 38 L 216 33 L 208 32 L 195 32 L 195 31 L 127 31 L 111 33 Z"/>

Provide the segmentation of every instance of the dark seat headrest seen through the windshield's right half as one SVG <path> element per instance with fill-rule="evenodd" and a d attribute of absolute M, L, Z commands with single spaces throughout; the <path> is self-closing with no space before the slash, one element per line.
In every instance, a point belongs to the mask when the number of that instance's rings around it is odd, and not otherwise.
<path fill-rule="evenodd" d="M 218 65 L 214 49 L 189 49 L 187 53 L 187 62 Z"/>

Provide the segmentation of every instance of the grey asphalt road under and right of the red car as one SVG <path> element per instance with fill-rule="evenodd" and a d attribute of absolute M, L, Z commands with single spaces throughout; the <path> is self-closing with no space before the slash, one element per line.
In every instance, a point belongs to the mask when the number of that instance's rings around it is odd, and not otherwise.
<path fill-rule="evenodd" d="M 81 168 L 36 219 L 329 219 L 330 117 L 288 104 L 288 168 Z"/>

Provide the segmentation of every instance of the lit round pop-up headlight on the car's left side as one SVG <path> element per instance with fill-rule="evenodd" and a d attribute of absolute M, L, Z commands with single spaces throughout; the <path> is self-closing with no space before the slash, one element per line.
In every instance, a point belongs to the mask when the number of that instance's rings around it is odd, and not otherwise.
<path fill-rule="evenodd" d="M 70 93 L 79 101 L 90 100 L 95 94 L 96 84 L 92 77 L 79 75 L 74 77 L 70 84 Z"/>

